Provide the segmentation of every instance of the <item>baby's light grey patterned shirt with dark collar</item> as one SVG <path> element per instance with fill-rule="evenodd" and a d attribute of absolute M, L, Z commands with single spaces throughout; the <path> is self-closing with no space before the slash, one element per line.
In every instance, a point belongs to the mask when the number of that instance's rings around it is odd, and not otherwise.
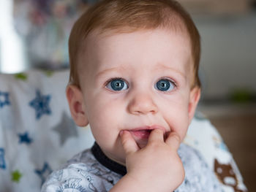
<path fill-rule="evenodd" d="M 222 191 L 214 172 L 197 150 L 181 144 L 178 155 L 184 166 L 185 178 L 175 192 Z M 50 174 L 42 185 L 42 192 L 110 191 L 126 173 L 126 167 L 110 160 L 95 142 L 91 149 L 75 155 L 65 166 Z"/>

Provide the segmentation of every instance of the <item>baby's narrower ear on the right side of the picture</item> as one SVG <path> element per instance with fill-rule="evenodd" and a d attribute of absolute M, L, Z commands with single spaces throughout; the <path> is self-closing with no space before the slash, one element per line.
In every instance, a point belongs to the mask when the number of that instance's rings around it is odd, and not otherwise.
<path fill-rule="evenodd" d="M 189 122 L 195 115 L 195 110 L 197 108 L 198 101 L 201 96 L 201 89 L 199 87 L 192 88 L 189 96 Z"/>

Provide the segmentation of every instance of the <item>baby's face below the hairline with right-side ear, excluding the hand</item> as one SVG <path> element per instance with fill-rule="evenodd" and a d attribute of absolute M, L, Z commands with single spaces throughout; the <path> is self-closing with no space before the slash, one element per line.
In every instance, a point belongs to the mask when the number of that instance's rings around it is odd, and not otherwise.
<path fill-rule="evenodd" d="M 193 78 L 189 38 L 167 29 L 96 35 L 80 56 L 81 101 L 105 155 L 125 163 L 119 133 L 145 147 L 152 128 L 184 139 L 200 91 Z"/>

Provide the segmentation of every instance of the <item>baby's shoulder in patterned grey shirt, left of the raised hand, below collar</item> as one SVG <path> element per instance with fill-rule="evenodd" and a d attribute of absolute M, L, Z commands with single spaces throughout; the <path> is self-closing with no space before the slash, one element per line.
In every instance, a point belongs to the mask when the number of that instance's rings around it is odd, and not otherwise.
<path fill-rule="evenodd" d="M 42 192 L 56 191 L 108 191 L 120 179 L 94 158 L 91 150 L 78 153 L 60 169 L 52 172 Z"/>

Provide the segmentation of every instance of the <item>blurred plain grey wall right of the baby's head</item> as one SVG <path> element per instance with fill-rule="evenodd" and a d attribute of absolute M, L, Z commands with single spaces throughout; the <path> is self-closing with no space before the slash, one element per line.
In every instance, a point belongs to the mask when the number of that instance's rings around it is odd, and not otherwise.
<path fill-rule="evenodd" d="M 204 99 L 227 98 L 235 91 L 256 93 L 256 12 L 195 18 L 202 38 Z"/>

